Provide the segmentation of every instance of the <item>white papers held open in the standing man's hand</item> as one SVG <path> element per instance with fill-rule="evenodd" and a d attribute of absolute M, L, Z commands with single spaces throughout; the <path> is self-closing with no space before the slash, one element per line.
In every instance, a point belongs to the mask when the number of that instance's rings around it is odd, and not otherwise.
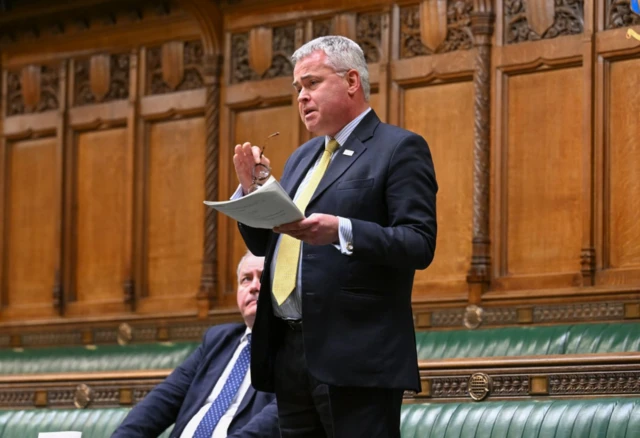
<path fill-rule="evenodd" d="M 271 177 L 258 190 L 233 201 L 204 201 L 205 205 L 253 228 L 271 229 L 304 219 L 280 183 Z"/>

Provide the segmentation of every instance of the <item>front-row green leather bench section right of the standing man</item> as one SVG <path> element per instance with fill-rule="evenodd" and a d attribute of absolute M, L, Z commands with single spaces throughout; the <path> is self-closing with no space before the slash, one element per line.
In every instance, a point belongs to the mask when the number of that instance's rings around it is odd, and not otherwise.
<path fill-rule="evenodd" d="M 426 403 L 402 406 L 402 438 L 630 438 L 640 399 Z"/>

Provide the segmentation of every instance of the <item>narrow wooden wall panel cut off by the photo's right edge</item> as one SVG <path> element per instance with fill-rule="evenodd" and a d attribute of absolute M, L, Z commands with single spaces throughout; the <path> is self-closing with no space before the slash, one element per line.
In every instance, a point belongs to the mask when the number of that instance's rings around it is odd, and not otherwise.
<path fill-rule="evenodd" d="M 598 10 L 595 37 L 595 284 L 637 289 L 640 282 L 640 130 L 637 72 L 640 43 L 627 36 L 640 30 L 629 4 L 607 2 Z M 632 27 L 633 26 L 633 27 Z"/>

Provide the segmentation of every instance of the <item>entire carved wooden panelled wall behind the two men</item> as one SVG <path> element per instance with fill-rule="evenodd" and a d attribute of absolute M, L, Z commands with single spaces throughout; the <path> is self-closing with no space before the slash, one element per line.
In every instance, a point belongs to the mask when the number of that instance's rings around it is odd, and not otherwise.
<path fill-rule="evenodd" d="M 309 138 L 289 57 L 326 34 L 361 44 L 371 106 L 433 152 L 418 328 L 640 318 L 639 25 L 627 0 L 16 5 L 0 14 L 0 346 L 237 319 L 243 243 L 202 201 L 235 190 L 236 143 L 280 131 L 279 176 Z"/>

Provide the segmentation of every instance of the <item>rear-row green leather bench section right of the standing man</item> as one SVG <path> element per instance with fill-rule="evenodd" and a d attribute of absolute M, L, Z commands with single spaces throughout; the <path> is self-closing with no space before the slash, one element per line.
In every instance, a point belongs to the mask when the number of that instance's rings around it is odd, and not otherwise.
<path fill-rule="evenodd" d="M 536 356 L 640 351 L 639 323 L 419 331 L 418 357 Z"/>

